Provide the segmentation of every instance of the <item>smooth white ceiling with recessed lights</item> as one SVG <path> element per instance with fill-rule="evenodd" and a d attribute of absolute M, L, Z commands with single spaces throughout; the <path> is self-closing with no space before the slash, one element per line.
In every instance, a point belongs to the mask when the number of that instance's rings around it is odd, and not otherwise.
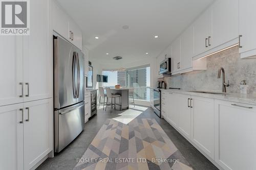
<path fill-rule="evenodd" d="M 213 0 L 57 1 L 82 29 L 90 58 L 123 64 L 157 57 Z"/>

